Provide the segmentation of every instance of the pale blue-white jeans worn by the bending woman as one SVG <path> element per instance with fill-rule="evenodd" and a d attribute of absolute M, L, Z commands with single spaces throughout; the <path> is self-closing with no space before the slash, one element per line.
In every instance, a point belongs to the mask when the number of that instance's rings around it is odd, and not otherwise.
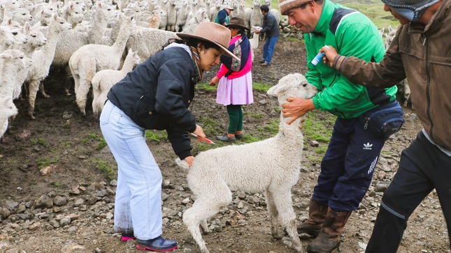
<path fill-rule="evenodd" d="M 117 162 L 114 230 L 140 240 L 162 235 L 162 173 L 148 145 L 145 129 L 109 100 L 100 128 Z"/>

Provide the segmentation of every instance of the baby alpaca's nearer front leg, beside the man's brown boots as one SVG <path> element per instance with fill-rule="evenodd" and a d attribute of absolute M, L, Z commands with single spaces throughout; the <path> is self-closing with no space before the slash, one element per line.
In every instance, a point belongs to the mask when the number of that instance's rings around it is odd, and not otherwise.
<path fill-rule="evenodd" d="M 279 220 L 282 222 L 287 231 L 289 238 L 292 239 L 293 247 L 297 252 L 303 252 L 301 240 L 296 229 L 296 214 L 292 205 L 291 189 L 286 189 L 284 192 L 274 192 L 273 196 L 278 196 L 274 199 L 274 204 L 279 211 Z"/>

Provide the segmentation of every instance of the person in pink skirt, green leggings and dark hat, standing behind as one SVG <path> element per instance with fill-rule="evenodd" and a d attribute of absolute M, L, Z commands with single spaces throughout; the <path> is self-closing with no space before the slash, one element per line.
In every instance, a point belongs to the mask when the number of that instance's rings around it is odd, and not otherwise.
<path fill-rule="evenodd" d="M 220 141 L 235 141 L 243 138 L 243 109 L 241 105 L 254 102 L 252 95 L 252 49 L 245 30 L 245 22 L 241 17 L 232 17 L 227 28 L 230 29 L 231 40 L 229 51 L 241 61 L 221 56 L 221 66 L 217 75 L 210 81 L 214 86 L 218 82 L 216 102 L 227 107 L 229 129 L 227 133 L 216 138 Z M 249 30 L 249 29 L 248 29 Z"/>

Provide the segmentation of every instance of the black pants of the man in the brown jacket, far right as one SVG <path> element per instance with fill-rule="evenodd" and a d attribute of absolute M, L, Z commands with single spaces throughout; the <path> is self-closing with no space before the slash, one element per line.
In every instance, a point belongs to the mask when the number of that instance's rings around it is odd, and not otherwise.
<path fill-rule="evenodd" d="M 398 250 L 407 220 L 420 202 L 436 189 L 451 241 L 451 157 L 424 136 L 401 153 L 399 169 L 382 197 L 366 253 Z"/>

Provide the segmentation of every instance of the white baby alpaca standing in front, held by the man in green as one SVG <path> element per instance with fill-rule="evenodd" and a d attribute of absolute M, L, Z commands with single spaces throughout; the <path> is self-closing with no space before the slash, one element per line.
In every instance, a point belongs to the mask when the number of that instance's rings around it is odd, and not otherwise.
<path fill-rule="evenodd" d="M 269 95 L 278 97 L 279 105 L 289 97 L 311 98 L 317 93 L 315 86 L 308 84 L 299 73 L 282 77 Z M 301 241 L 296 230 L 296 214 L 292 207 L 291 189 L 298 182 L 301 169 L 303 135 L 299 130 L 301 118 L 291 125 L 289 118 L 280 114 L 278 135 L 241 146 L 224 146 L 201 152 L 188 169 L 189 189 L 196 201 L 183 214 L 183 222 L 192 234 L 202 253 L 208 253 L 202 239 L 199 224 L 208 232 L 206 220 L 232 201 L 231 190 L 245 192 L 266 191 L 266 204 L 271 217 L 271 234 L 282 238 L 282 225 L 292 240 L 294 249 L 302 252 Z M 187 163 L 177 159 L 180 167 Z"/>

